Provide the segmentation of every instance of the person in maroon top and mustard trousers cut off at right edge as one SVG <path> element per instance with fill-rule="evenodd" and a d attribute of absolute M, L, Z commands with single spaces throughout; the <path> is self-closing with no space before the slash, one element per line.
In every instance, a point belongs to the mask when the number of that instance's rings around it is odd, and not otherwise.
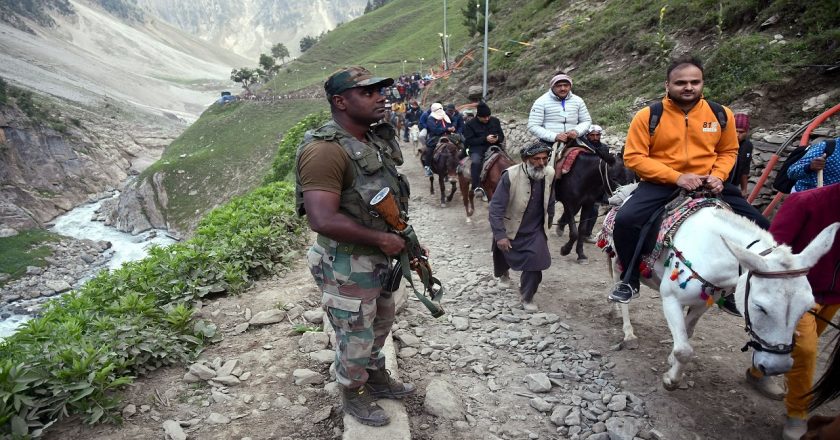
<path fill-rule="evenodd" d="M 823 229 L 840 221 L 840 183 L 791 194 L 782 205 L 770 232 L 779 243 L 789 245 L 794 253 L 802 252 Z M 787 395 L 785 407 L 787 420 L 782 431 L 784 439 L 799 439 L 807 430 L 805 419 L 811 396 L 817 364 L 817 342 L 840 309 L 840 239 L 808 272 L 808 283 L 817 305 L 814 312 L 822 319 L 806 313 L 796 325 L 796 342 L 793 348 L 793 368 L 785 374 Z M 747 371 L 747 381 L 758 385 L 761 373 L 755 368 Z"/>

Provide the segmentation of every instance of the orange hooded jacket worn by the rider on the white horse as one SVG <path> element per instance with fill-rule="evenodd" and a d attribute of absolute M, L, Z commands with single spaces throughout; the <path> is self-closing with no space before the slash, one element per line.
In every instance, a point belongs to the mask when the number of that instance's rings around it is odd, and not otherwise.
<path fill-rule="evenodd" d="M 726 111 L 726 130 L 701 99 L 685 113 L 667 96 L 662 100 L 659 125 L 651 138 L 650 107 L 639 110 L 630 123 L 624 147 L 624 164 L 642 180 L 677 183 L 681 174 L 711 174 L 726 181 L 738 156 L 738 134 L 732 110 Z"/>

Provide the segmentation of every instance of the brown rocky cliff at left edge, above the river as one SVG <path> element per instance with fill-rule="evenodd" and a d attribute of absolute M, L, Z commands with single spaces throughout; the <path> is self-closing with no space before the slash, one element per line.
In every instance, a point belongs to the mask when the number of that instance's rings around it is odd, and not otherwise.
<path fill-rule="evenodd" d="M 89 116 L 57 131 L 0 106 L 0 227 L 44 227 L 101 197 L 158 157 L 180 131 Z"/>

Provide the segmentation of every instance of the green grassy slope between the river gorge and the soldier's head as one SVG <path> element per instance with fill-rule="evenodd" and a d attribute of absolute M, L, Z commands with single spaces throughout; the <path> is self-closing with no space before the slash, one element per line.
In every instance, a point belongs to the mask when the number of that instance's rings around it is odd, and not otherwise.
<path fill-rule="evenodd" d="M 214 104 L 140 176 L 165 173 L 167 219 L 188 231 L 218 204 L 259 185 L 283 134 L 322 100 Z"/>

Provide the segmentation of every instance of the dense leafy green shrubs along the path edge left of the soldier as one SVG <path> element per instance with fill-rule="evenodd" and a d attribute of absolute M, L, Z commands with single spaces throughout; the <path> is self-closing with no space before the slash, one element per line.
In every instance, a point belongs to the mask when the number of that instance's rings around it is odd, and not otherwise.
<path fill-rule="evenodd" d="M 294 188 L 272 183 L 205 217 L 189 241 L 101 272 L 49 301 L 0 343 L 0 438 L 39 436 L 68 414 L 118 420 L 119 389 L 138 375 L 195 357 L 215 326 L 189 304 L 239 293 L 296 256 L 304 222 Z"/>

